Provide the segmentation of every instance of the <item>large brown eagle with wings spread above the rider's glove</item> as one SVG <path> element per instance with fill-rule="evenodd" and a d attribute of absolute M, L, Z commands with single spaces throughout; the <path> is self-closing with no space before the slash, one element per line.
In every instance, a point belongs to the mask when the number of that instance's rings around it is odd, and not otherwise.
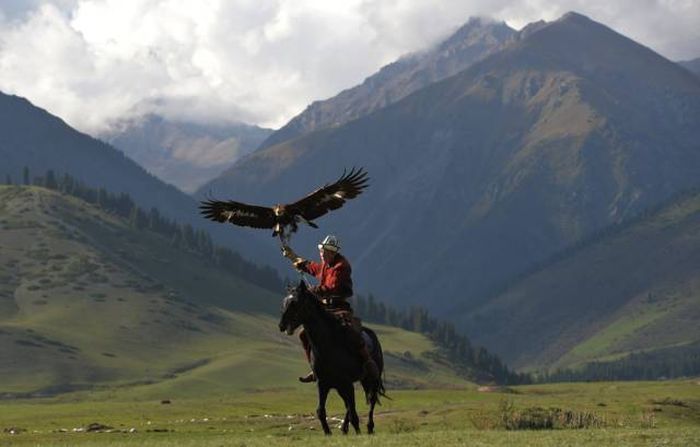
<path fill-rule="evenodd" d="M 199 209 L 207 219 L 231 223 L 243 227 L 271 228 L 272 236 L 278 236 L 286 244 L 291 235 L 305 223 L 318 228 L 313 220 L 354 199 L 368 186 L 369 177 L 363 168 L 352 168 L 332 184 L 318 188 L 301 200 L 273 207 L 248 205 L 247 203 L 220 200 L 202 201 Z"/>

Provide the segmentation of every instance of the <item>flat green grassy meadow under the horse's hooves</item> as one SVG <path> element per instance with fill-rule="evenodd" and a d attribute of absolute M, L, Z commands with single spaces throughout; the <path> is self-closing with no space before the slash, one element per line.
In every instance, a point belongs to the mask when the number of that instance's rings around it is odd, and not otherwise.
<path fill-rule="evenodd" d="M 514 388 L 390 390 L 377 434 L 344 437 L 340 399 L 329 399 L 334 436 L 313 417 L 315 387 L 137 399 L 133 390 L 3 401 L 2 446 L 274 445 L 700 445 L 700 381 L 530 385 Z M 506 430 L 504 408 L 561 408 L 592 415 L 592 428 Z M 360 399 L 361 423 L 366 406 Z M 101 432 L 86 432 L 90 424 Z M 111 427 L 111 428 L 107 428 Z M 363 427 L 364 429 L 364 427 Z M 18 434 L 11 434 L 14 430 Z"/>

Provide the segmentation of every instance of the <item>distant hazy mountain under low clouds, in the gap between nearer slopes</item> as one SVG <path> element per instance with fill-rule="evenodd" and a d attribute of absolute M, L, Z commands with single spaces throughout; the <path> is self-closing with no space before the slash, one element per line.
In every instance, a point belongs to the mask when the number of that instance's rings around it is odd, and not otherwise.
<path fill-rule="evenodd" d="M 166 183 L 194 192 L 271 133 L 246 124 L 199 124 L 158 115 L 115 123 L 97 135 Z"/>

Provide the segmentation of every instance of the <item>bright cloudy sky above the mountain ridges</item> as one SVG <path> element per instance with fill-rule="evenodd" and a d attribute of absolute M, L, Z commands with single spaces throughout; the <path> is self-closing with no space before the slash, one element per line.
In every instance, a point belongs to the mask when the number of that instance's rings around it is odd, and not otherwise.
<path fill-rule="evenodd" d="M 700 57 L 700 0 L 0 0 L 0 91 L 93 135 L 145 113 L 278 128 L 469 17 L 568 11 Z"/>

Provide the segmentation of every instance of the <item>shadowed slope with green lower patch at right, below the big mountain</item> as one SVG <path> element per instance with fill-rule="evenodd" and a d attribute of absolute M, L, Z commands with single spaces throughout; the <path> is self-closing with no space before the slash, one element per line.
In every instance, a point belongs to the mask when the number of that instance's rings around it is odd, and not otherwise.
<path fill-rule="evenodd" d="M 700 194 L 592 240 L 471 314 L 517 366 L 576 366 L 700 340 Z"/>

